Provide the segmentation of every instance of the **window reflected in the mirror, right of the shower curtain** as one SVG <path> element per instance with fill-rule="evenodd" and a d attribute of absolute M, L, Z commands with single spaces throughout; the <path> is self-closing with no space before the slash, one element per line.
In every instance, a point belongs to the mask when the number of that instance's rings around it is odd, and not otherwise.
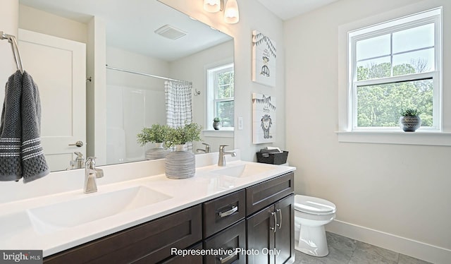
<path fill-rule="evenodd" d="M 222 129 L 233 130 L 235 109 L 233 64 L 209 68 L 207 76 L 209 91 L 207 127 L 213 129 L 213 119 L 219 117 Z"/>

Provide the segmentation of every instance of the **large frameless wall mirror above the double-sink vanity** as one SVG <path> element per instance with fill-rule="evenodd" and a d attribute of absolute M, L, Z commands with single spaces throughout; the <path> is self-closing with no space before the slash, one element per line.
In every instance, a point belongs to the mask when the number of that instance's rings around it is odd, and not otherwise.
<path fill-rule="evenodd" d="M 192 121 L 203 126 L 203 142 L 212 151 L 233 148 L 233 102 L 214 96 L 210 74 L 233 70 L 232 37 L 156 0 L 20 0 L 19 28 L 25 71 L 41 92 L 51 171 L 77 169 L 80 155 L 96 155 L 99 165 L 145 160 L 152 145 L 142 147 L 136 135 L 166 124 L 165 78 L 192 83 Z M 233 77 L 227 81 L 233 97 Z M 212 127 L 215 107 L 231 117 L 221 131 Z M 104 114 L 92 119 L 94 111 Z"/>

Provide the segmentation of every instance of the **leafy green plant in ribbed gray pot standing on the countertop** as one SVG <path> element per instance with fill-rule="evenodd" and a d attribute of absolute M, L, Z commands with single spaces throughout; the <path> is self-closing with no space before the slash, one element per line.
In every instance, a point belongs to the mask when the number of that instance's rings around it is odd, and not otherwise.
<path fill-rule="evenodd" d="M 166 155 L 166 177 L 169 179 L 185 179 L 196 173 L 196 159 L 194 153 L 187 151 L 188 142 L 199 141 L 201 126 L 196 123 L 184 127 L 170 128 L 166 145 L 175 146 L 173 152 Z"/>

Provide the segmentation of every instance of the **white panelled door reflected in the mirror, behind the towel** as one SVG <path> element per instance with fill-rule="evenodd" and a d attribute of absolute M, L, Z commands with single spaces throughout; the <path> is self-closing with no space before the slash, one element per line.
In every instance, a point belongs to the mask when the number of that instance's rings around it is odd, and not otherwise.
<path fill-rule="evenodd" d="M 67 169 L 74 152 L 86 155 L 86 44 L 23 29 L 18 39 L 23 68 L 39 88 L 47 163 Z"/>

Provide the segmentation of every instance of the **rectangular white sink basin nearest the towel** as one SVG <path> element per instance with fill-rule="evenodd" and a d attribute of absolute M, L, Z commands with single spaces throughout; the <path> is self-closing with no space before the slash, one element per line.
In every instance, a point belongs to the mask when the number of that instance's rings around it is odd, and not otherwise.
<path fill-rule="evenodd" d="M 109 193 L 95 193 L 83 198 L 27 210 L 35 230 L 41 234 L 92 222 L 167 200 L 171 196 L 144 186 Z"/>

